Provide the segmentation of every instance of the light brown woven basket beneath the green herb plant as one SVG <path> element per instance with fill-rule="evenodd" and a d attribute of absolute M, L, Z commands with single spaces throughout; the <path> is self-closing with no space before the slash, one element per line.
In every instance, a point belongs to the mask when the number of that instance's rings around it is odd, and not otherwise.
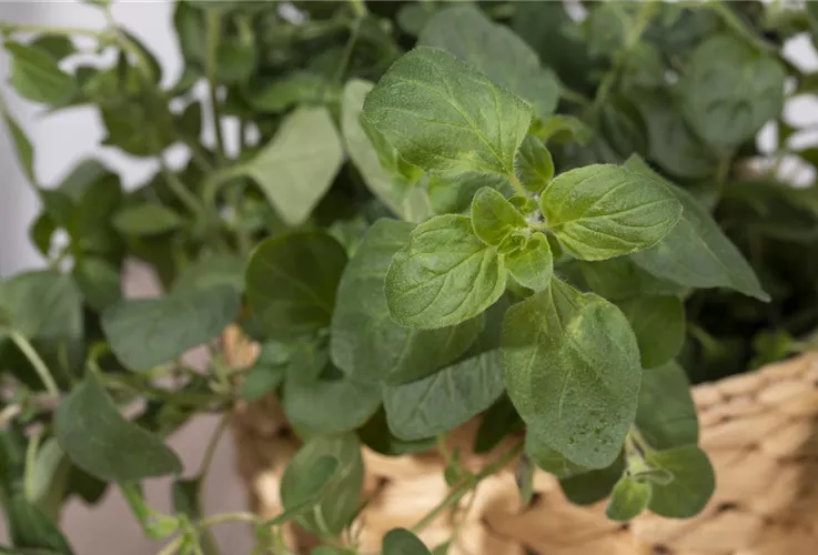
<path fill-rule="evenodd" d="M 229 331 L 225 353 L 249 364 L 256 347 Z M 481 482 L 474 498 L 442 514 L 420 534 L 430 547 L 457 539 L 453 555 L 816 555 L 818 554 L 818 353 L 699 385 L 694 397 L 701 447 L 716 468 L 716 493 L 695 518 L 644 514 L 628 525 L 608 521 L 605 502 L 579 507 L 551 475 L 535 475 L 534 502 L 523 507 L 515 464 Z M 233 422 L 238 467 L 252 509 L 282 511 L 279 481 L 299 442 L 275 398 L 240 406 Z M 451 434 L 463 462 L 479 470 L 513 440 L 487 455 L 469 455 L 476 422 Z M 364 495 L 373 496 L 355 523 L 362 553 L 377 553 L 391 528 L 411 528 L 447 494 L 436 453 L 385 457 L 364 448 Z M 312 538 L 287 529 L 296 553 Z"/>

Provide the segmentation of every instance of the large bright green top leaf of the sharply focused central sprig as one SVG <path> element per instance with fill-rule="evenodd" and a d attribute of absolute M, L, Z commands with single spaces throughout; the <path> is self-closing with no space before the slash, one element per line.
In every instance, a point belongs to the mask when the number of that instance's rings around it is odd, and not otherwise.
<path fill-rule="evenodd" d="M 452 54 L 420 47 L 367 94 L 363 117 L 425 171 L 508 175 L 532 109 Z"/>

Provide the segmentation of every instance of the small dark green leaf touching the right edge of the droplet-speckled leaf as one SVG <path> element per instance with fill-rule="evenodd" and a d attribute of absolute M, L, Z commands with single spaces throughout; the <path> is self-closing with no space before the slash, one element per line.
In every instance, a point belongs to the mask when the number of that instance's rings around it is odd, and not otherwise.
<path fill-rule="evenodd" d="M 676 357 L 685 343 L 685 305 L 676 296 L 639 296 L 617 303 L 630 321 L 643 369 L 655 369 Z"/>

